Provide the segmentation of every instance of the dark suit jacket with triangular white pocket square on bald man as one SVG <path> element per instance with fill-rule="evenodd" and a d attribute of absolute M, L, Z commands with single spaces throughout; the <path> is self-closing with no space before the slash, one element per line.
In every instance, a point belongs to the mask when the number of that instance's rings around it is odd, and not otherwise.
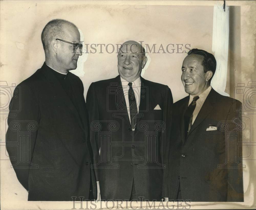
<path fill-rule="evenodd" d="M 163 156 L 173 103 L 168 86 L 141 78 L 137 125 L 131 129 L 120 76 L 92 83 L 86 103 L 102 200 L 129 200 L 134 185 L 143 200 L 162 196 Z M 134 88 L 135 89 L 135 88 Z M 136 90 L 134 90 L 136 92 Z M 157 106 L 161 110 L 154 110 Z M 100 155 L 99 155 L 100 148 Z M 166 160 L 166 159 L 165 159 Z"/>

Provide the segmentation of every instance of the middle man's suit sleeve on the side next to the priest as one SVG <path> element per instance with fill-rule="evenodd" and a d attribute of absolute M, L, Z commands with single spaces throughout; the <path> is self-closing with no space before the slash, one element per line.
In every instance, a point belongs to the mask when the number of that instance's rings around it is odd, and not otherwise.
<path fill-rule="evenodd" d="M 95 91 L 94 83 L 92 83 L 88 89 L 86 96 L 86 105 L 89 116 L 89 127 L 90 127 L 90 142 L 93 151 L 93 163 L 97 165 L 99 162 L 99 141 L 97 132 L 92 128 L 92 122 L 99 120 L 99 111 L 98 111 L 98 99 Z M 96 180 L 98 180 L 98 171 L 95 168 Z"/>

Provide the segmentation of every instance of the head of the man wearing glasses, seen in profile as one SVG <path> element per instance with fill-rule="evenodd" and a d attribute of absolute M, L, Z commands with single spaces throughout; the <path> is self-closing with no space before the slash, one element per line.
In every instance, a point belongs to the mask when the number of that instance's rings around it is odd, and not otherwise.
<path fill-rule="evenodd" d="M 42 31 L 42 43 L 45 50 L 45 63 L 56 71 L 67 73 L 77 68 L 81 48 L 78 28 L 67 20 L 55 19 Z"/>

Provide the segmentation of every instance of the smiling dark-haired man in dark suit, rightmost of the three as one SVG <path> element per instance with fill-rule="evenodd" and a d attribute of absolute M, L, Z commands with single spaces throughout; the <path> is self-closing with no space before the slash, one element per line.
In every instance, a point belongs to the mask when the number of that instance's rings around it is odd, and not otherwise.
<path fill-rule="evenodd" d="M 243 201 L 242 148 L 237 145 L 242 138 L 236 126 L 241 102 L 210 86 L 215 70 L 215 57 L 204 50 L 192 49 L 183 61 L 181 79 L 189 96 L 172 108 L 164 184 L 171 200 Z"/>

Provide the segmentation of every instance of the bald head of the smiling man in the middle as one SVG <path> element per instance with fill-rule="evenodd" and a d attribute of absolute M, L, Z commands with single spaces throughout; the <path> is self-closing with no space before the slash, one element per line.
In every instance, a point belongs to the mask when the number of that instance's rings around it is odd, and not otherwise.
<path fill-rule="evenodd" d="M 141 75 L 146 64 L 142 48 L 136 42 L 125 42 L 118 53 L 118 73 L 127 81 L 134 81 Z"/>

